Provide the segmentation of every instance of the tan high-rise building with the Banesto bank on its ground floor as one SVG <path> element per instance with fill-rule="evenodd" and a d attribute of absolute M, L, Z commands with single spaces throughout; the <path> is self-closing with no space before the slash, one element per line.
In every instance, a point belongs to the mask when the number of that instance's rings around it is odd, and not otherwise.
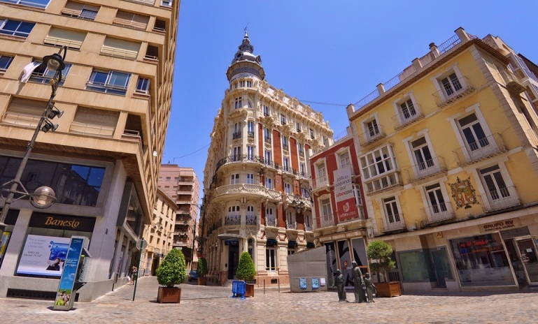
<path fill-rule="evenodd" d="M 54 297 L 62 271 L 44 270 L 59 251 L 48 242 L 64 246 L 72 235 L 90 240 L 79 301 L 127 282 L 135 243 L 153 218 L 178 13 L 179 1 L 0 1 L 1 184 L 15 177 L 45 108 L 49 118 L 63 112 L 49 121 L 55 131 L 39 132 L 21 181 L 28 191 L 50 186 L 57 200 L 48 209 L 25 199 L 10 206 L 0 297 Z M 63 46 L 66 67 L 50 107 L 55 71 L 39 63 Z M 46 255 L 34 265 L 28 255 L 38 249 Z"/>

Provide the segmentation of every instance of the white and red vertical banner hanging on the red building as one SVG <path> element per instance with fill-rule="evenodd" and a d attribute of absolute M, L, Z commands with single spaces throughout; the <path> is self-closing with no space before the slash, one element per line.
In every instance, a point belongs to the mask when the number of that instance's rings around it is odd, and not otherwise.
<path fill-rule="evenodd" d="M 351 165 L 334 170 L 334 198 L 337 202 L 338 220 L 354 219 L 359 216 L 353 196 Z"/>

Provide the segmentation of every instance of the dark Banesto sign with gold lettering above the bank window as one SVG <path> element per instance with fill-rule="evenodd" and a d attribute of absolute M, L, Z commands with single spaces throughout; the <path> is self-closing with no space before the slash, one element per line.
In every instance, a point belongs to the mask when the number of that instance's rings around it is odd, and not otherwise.
<path fill-rule="evenodd" d="M 54 228 L 56 230 L 93 232 L 95 219 L 94 217 L 33 213 L 31 214 L 29 226 L 37 228 Z"/>

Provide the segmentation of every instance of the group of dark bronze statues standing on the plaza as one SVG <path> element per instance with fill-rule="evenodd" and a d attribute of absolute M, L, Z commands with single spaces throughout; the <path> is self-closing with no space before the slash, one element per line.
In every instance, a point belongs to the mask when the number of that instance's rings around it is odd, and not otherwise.
<path fill-rule="evenodd" d="M 376 286 L 371 283 L 370 274 L 365 274 L 363 278 L 362 272 L 360 271 L 360 267 L 358 267 L 357 263 L 353 261 L 351 265 L 353 265 L 353 288 L 355 293 L 355 302 L 374 302 L 374 292 Z M 332 286 L 337 286 L 339 302 L 348 301 L 346 298 L 346 289 L 344 288 L 344 283 L 344 275 L 338 269 L 336 277 L 334 278 L 334 284 Z M 363 286 L 366 287 L 366 293 L 364 293 L 364 288 L 362 288 Z"/>

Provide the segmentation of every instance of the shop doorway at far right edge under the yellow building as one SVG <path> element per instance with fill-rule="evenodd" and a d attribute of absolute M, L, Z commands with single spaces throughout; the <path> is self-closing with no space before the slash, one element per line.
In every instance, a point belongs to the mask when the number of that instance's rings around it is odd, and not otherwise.
<path fill-rule="evenodd" d="M 520 286 L 538 283 L 538 255 L 535 242 L 531 238 L 504 240 L 508 256 Z"/>

